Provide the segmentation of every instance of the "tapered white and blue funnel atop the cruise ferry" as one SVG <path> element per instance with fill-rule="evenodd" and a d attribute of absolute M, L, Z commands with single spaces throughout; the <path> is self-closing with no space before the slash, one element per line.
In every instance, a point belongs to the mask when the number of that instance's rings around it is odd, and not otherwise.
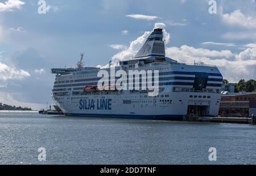
<path fill-rule="evenodd" d="M 154 29 L 154 32 L 147 38 L 142 48 L 135 55 L 135 58 L 143 57 L 165 57 L 163 29 Z"/>

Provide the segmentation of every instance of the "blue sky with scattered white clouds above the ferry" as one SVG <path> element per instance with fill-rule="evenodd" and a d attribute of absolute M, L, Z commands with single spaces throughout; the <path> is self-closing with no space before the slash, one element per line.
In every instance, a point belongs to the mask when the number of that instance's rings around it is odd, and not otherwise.
<path fill-rule="evenodd" d="M 213 0 L 212 0 L 213 1 Z M 212 2 L 211 1 L 211 2 Z M 164 28 L 166 55 L 216 65 L 225 79 L 256 79 L 255 0 L 0 0 L 0 102 L 52 104 L 51 68 L 133 59 L 154 28 Z M 41 4 L 40 4 L 41 5 Z"/>

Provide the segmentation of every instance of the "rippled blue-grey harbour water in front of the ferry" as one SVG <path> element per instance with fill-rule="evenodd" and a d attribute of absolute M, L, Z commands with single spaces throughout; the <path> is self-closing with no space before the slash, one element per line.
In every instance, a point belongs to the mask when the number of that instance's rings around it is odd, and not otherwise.
<path fill-rule="evenodd" d="M 255 135 L 250 125 L 0 111 L 0 164 L 256 164 Z"/>

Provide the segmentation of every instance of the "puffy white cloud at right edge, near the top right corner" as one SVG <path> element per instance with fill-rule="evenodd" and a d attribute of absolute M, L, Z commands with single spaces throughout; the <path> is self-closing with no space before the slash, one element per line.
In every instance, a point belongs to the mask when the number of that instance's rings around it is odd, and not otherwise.
<path fill-rule="evenodd" d="M 256 28 L 256 18 L 253 16 L 245 16 L 241 10 L 235 10 L 231 14 L 222 14 L 221 17 L 222 21 L 228 25 L 250 29 Z"/>

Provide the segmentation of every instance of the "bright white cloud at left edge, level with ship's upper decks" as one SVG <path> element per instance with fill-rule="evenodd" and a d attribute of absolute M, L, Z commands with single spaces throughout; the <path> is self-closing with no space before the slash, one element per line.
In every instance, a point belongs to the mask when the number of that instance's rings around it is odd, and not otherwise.
<path fill-rule="evenodd" d="M 9 67 L 0 62 L 0 80 L 6 81 L 8 79 L 23 79 L 29 76 L 30 74 L 27 71 L 20 70 L 15 67 Z"/>

